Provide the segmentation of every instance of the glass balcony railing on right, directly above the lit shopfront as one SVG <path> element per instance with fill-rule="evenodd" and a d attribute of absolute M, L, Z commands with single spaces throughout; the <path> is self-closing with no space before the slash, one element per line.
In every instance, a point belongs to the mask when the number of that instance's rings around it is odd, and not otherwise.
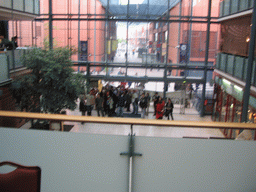
<path fill-rule="evenodd" d="M 240 57 L 226 53 L 218 53 L 216 69 L 219 69 L 225 73 L 232 75 L 239 80 L 246 81 L 247 78 L 247 67 L 248 67 L 248 58 Z M 252 70 L 252 81 L 251 84 L 256 86 L 255 78 L 255 61 L 253 62 Z"/>

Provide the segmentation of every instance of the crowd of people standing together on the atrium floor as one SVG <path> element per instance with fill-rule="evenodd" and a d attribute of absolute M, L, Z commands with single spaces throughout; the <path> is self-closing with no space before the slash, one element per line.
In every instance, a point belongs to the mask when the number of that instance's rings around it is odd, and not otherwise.
<path fill-rule="evenodd" d="M 88 94 L 80 97 L 79 110 L 83 116 L 91 116 L 92 110 L 96 109 L 99 117 L 124 117 L 124 111 L 138 115 L 140 108 L 141 118 L 144 119 L 149 113 L 151 101 L 153 101 L 156 119 L 163 119 L 163 116 L 166 116 L 169 120 L 171 116 L 173 120 L 173 103 L 171 99 L 168 99 L 165 103 L 157 92 L 151 99 L 149 93 L 142 92 L 140 94 L 138 90 L 125 89 L 124 86 L 117 88 L 106 86 L 101 91 L 91 89 Z"/>

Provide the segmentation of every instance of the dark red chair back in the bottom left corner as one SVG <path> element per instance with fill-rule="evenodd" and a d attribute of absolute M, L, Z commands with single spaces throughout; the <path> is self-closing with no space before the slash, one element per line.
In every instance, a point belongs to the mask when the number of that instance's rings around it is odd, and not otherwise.
<path fill-rule="evenodd" d="M 1 162 L 0 167 L 10 165 L 16 167 L 9 173 L 0 173 L 1 192 L 40 192 L 41 168 L 37 166 L 23 166 L 13 162 Z"/>

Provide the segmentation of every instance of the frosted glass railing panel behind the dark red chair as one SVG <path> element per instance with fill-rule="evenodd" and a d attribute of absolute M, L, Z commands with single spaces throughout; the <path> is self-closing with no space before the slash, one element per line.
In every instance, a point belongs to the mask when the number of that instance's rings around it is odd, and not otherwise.
<path fill-rule="evenodd" d="M 95 129 L 99 127 L 102 124 Z M 8 136 L 10 134 L 11 138 Z M 44 170 L 46 179 L 41 183 L 41 191 L 48 191 L 49 186 L 64 191 L 125 192 L 128 189 L 128 156 L 120 156 L 121 152 L 128 151 L 128 136 L 63 132 L 53 134 L 51 131 L 7 128 L 1 128 L 0 135 L 3 147 L 1 159 L 13 162 L 19 160 L 24 165 L 36 164 Z M 71 140 L 75 149 L 71 147 Z M 12 149 L 8 149 L 11 143 L 15 144 Z M 23 158 L 18 152 L 20 147 L 23 149 L 22 154 L 31 158 Z"/>

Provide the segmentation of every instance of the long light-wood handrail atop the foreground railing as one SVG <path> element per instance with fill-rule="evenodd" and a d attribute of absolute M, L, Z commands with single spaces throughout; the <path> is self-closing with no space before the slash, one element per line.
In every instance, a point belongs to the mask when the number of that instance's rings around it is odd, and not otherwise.
<path fill-rule="evenodd" d="M 2 117 L 42 119 L 51 121 L 73 121 L 86 123 L 104 124 L 127 124 L 145 126 L 167 126 L 167 127 L 194 127 L 194 128 L 213 128 L 213 129 L 249 129 L 256 130 L 254 123 L 225 123 L 225 122 L 204 122 L 204 121 L 170 121 L 156 119 L 138 118 L 115 118 L 115 117 L 93 117 L 93 116 L 74 116 L 44 113 L 28 113 L 16 111 L 0 111 Z"/>

